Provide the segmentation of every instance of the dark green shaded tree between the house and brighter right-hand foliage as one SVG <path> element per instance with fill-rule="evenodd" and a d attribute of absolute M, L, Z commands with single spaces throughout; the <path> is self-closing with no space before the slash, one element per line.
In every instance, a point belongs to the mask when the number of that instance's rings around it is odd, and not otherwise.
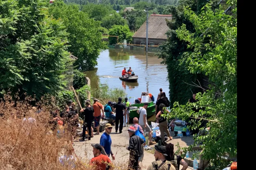
<path fill-rule="evenodd" d="M 187 43 L 184 40 L 178 39 L 176 30 L 184 23 L 187 30 L 194 32 L 193 24 L 184 16 L 184 6 L 189 6 L 192 11 L 199 13 L 198 9 L 200 10 L 205 3 L 206 1 L 201 0 L 179 0 L 178 6 L 168 6 L 168 13 L 172 14 L 172 20 L 167 21 L 170 28 L 166 33 L 168 38 L 161 46 L 162 50 L 158 56 L 164 60 L 163 63 L 167 66 L 171 104 L 174 101 L 185 104 L 192 96 L 191 91 L 193 93 L 202 92 L 200 88 L 186 84 L 197 80 L 201 81 L 202 75 L 200 73 L 191 74 L 186 69 L 185 63 L 179 61 L 182 54 L 191 49 L 187 49 Z M 214 5 L 216 5 L 215 2 Z"/>

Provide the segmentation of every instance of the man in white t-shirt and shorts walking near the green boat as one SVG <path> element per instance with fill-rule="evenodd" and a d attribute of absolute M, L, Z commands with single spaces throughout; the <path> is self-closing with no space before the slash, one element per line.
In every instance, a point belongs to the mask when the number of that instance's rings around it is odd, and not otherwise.
<path fill-rule="evenodd" d="M 150 141 L 150 145 L 152 145 L 152 144 L 156 144 L 156 142 L 152 141 L 151 129 L 148 126 L 147 110 L 146 110 L 147 108 L 148 108 L 148 103 L 144 103 L 143 107 L 137 110 L 137 113 L 140 114 L 139 125 L 142 127 L 143 131 L 146 129 L 146 131 L 148 132 L 148 139 Z"/>

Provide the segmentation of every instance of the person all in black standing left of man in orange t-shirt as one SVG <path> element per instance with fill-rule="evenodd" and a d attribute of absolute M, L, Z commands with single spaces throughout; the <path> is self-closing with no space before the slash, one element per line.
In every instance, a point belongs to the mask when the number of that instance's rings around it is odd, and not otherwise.
<path fill-rule="evenodd" d="M 83 125 L 83 131 L 82 131 L 82 138 L 80 139 L 80 141 L 83 141 L 85 140 L 85 131 L 86 131 L 86 127 L 88 127 L 88 140 L 91 140 L 91 134 L 92 134 L 92 131 L 91 131 L 91 127 L 92 127 L 92 121 L 94 119 L 94 110 L 93 110 L 93 107 L 91 107 L 91 103 L 90 101 L 86 101 L 86 109 L 81 109 L 80 112 L 85 112 L 85 121 L 84 123 L 86 123 L 86 126 L 85 124 Z"/>

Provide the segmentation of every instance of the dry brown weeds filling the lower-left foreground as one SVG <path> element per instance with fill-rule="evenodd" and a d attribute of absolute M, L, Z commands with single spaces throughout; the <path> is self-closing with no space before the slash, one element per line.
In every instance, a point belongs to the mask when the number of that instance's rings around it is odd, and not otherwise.
<path fill-rule="evenodd" d="M 43 111 L 35 114 L 30 103 L 40 104 Z M 0 170 L 70 170 L 72 167 L 60 163 L 62 155 L 75 157 L 73 169 L 95 169 L 89 166 L 89 159 L 82 159 L 73 152 L 70 136 L 67 130 L 57 137 L 56 131 L 51 131 L 50 110 L 55 107 L 52 97 L 45 97 L 40 103 L 26 97 L 12 98 L 5 95 L 0 99 Z M 23 121 L 33 117 L 36 121 Z M 86 152 L 86 150 L 85 150 Z M 125 157 L 125 155 L 124 155 Z M 127 158 L 115 162 L 114 169 L 125 170 Z"/>

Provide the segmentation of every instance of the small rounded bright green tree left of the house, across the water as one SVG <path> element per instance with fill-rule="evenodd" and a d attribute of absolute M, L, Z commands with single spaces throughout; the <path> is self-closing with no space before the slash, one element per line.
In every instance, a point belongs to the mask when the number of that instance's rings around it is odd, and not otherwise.
<path fill-rule="evenodd" d="M 128 25 L 114 25 L 111 29 L 109 29 L 110 36 L 118 36 L 119 43 L 124 43 L 126 40 L 127 43 L 132 42 L 133 33 L 129 30 Z M 116 44 L 116 37 L 109 37 L 109 44 Z"/>

